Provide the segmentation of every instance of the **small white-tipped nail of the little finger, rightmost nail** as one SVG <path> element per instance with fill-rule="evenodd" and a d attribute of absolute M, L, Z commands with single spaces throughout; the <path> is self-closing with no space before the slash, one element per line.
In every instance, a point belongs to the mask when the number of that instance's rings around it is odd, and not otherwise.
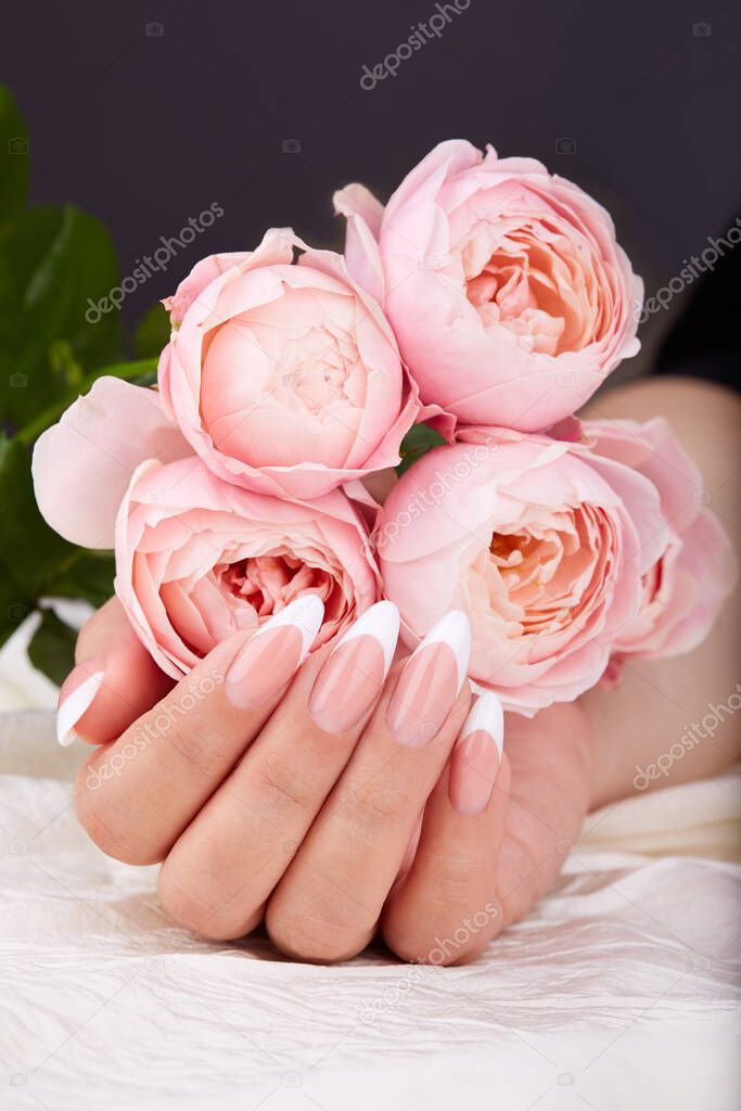
<path fill-rule="evenodd" d="M 487 691 L 473 703 L 450 760 L 448 797 L 459 814 L 473 818 L 489 805 L 503 745 L 502 703 Z"/>

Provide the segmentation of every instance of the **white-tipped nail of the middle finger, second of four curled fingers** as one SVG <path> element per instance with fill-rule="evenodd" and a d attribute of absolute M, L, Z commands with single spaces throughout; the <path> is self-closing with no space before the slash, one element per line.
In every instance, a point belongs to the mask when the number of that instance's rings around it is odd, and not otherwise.
<path fill-rule="evenodd" d="M 358 618 L 332 649 L 317 675 L 309 713 L 320 729 L 343 733 L 378 698 L 399 638 L 399 610 L 377 602 Z"/>

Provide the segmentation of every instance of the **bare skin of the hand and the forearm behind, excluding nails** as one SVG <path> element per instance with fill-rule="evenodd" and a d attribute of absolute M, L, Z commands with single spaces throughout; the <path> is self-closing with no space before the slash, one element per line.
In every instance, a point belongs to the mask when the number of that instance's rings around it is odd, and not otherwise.
<path fill-rule="evenodd" d="M 667 416 L 738 546 L 740 410 L 720 388 L 659 380 L 614 390 L 588 414 Z M 106 672 L 77 727 L 98 744 L 76 784 L 78 814 L 110 855 L 162 862 L 164 910 L 206 938 L 239 938 L 263 922 L 281 952 L 324 962 L 353 957 L 380 933 L 403 960 L 464 963 L 553 885 L 588 811 L 634 793 L 635 765 L 665 753 L 708 702 L 735 690 L 740 610 L 737 590 L 700 649 L 631 662 L 617 691 L 595 688 L 533 720 L 507 715 L 489 805 L 463 817 L 449 800 L 448 758 L 467 688 L 427 745 L 404 748 L 384 723 L 397 663 L 366 719 L 331 735 L 307 711 L 327 649 L 272 702 L 238 711 L 213 677 L 242 634 L 173 687 L 113 599 L 80 633 L 68 680 Z M 194 704 L 179 712 L 193 691 Z M 728 767 L 741 754 L 740 723 L 741 714 L 727 718 L 649 789 Z M 141 741 L 147 727 L 159 730 L 151 743 Z"/>

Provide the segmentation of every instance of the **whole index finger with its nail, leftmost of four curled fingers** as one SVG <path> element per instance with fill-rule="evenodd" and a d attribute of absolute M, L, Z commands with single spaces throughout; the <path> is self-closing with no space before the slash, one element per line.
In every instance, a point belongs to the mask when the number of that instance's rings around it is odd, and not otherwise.
<path fill-rule="evenodd" d="M 162 860 L 272 713 L 323 617 L 297 598 L 258 632 L 222 641 L 80 772 L 80 820 L 109 855 Z"/>

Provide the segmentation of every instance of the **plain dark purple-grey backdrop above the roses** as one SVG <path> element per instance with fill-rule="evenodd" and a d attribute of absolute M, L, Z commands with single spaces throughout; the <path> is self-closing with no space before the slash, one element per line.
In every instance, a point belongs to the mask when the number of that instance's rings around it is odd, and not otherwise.
<path fill-rule="evenodd" d="M 537 157 L 593 193 L 648 293 L 733 220 L 741 4 L 470 0 L 395 78 L 363 91 L 362 67 L 434 11 L 434 0 L 13 4 L 0 76 L 29 121 L 33 199 L 101 217 L 123 274 L 222 204 L 127 299 L 129 322 L 199 257 L 252 247 L 269 226 L 339 246 L 334 188 L 358 179 L 385 197 L 451 137 Z M 163 34 L 148 36 L 158 22 Z M 573 153 L 557 150 L 564 137 Z M 287 139 L 299 153 L 283 152 Z M 644 329 L 644 361 L 675 302 Z"/>

